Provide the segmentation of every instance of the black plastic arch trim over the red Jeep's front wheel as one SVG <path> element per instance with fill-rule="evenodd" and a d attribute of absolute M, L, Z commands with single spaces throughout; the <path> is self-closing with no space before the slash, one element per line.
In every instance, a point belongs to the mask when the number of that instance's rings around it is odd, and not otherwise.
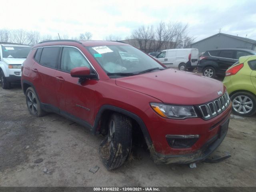
<path fill-rule="evenodd" d="M 105 110 L 112 110 L 112 111 L 124 114 L 124 115 L 134 119 L 139 124 L 139 126 L 142 130 L 142 133 L 144 135 L 144 138 L 146 140 L 148 148 L 150 148 L 152 146 L 152 140 L 150 138 L 150 134 L 148 133 L 148 130 L 147 130 L 146 125 L 144 124 L 143 120 L 138 115 L 136 115 L 132 112 L 129 112 L 125 109 L 122 109 L 122 108 L 119 108 L 119 107 L 116 107 L 116 106 L 112 106 L 112 105 L 107 105 L 106 104 L 106 105 L 101 106 L 100 110 L 98 111 L 98 113 L 96 115 L 96 118 L 95 118 L 95 121 L 94 121 L 94 126 L 92 128 L 92 133 L 93 134 L 96 134 L 96 130 L 97 130 L 99 124 L 100 124 L 101 115 Z"/>

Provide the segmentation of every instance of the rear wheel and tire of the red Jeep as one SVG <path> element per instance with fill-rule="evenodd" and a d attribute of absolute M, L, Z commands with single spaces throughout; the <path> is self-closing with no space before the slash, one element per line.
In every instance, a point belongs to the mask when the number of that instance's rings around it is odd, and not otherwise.
<path fill-rule="evenodd" d="M 46 115 L 46 112 L 42 110 L 38 96 L 32 87 L 27 88 L 25 96 L 30 114 L 39 117 Z"/>

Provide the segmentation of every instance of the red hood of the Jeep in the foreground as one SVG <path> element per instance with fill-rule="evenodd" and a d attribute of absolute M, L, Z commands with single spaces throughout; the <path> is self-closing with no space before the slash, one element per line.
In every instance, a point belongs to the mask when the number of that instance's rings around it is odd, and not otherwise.
<path fill-rule="evenodd" d="M 117 78 L 116 85 L 138 91 L 164 103 L 195 105 L 218 98 L 224 85 L 218 80 L 190 72 L 166 69 L 141 75 Z"/>

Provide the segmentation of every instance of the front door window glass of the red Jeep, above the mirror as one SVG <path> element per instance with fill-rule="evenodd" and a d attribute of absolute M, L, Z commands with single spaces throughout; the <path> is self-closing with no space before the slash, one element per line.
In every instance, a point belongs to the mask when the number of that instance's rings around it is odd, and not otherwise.
<path fill-rule="evenodd" d="M 76 67 L 90 68 L 90 64 L 76 48 L 64 47 L 62 50 L 60 69 L 70 72 Z"/>

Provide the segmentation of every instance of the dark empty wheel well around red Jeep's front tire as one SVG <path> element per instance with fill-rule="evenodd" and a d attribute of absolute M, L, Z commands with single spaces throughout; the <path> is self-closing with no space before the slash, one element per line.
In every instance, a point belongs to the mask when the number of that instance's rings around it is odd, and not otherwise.
<path fill-rule="evenodd" d="M 122 114 L 122 112 L 116 112 L 113 110 L 105 110 L 104 112 L 102 112 L 102 115 L 100 117 L 100 126 L 99 126 L 99 132 L 101 134 L 103 134 L 103 135 L 108 134 L 108 120 L 113 113 Z M 125 114 L 122 114 L 122 115 L 125 115 Z M 125 116 L 127 116 L 127 115 L 125 115 Z M 130 118 L 130 120 L 132 122 L 133 144 L 136 144 L 136 145 L 140 144 L 140 146 L 147 146 L 146 140 L 144 138 L 144 134 L 143 134 L 142 129 L 141 129 L 140 125 L 138 124 L 138 122 L 129 116 L 127 116 L 127 117 Z"/>

